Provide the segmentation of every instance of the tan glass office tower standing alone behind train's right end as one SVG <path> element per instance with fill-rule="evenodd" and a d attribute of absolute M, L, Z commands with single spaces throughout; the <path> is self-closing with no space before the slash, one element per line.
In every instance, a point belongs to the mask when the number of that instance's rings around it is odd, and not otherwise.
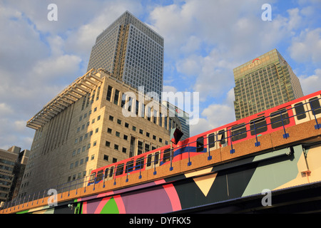
<path fill-rule="evenodd" d="M 236 120 L 303 96 L 299 79 L 276 49 L 233 72 Z"/>

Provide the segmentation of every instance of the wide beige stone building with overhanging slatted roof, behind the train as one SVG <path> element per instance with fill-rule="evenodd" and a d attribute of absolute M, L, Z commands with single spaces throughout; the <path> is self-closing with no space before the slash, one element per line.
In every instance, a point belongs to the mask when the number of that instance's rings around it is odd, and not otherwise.
<path fill-rule="evenodd" d="M 139 94 L 91 70 L 56 95 L 27 122 L 36 133 L 19 195 L 43 195 L 66 182 L 81 187 L 91 170 L 167 145 L 168 114 Z"/>

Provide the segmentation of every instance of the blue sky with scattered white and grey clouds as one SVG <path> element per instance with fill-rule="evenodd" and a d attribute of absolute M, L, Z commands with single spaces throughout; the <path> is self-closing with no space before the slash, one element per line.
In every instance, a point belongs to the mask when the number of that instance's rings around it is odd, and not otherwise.
<path fill-rule="evenodd" d="M 233 68 L 273 48 L 305 94 L 321 89 L 320 0 L 0 0 L 1 149 L 30 149 L 26 121 L 86 73 L 96 36 L 126 10 L 165 39 L 164 90 L 199 93 L 191 135 L 235 120 Z"/>

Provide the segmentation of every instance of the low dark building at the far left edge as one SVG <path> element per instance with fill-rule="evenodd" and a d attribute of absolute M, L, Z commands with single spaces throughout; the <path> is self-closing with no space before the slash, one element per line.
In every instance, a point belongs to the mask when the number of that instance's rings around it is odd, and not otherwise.
<path fill-rule="evenodd" d="M 29 150 L 20 147 L 0 149 L 0 205 L 17 197 L 28 156 Z"/>

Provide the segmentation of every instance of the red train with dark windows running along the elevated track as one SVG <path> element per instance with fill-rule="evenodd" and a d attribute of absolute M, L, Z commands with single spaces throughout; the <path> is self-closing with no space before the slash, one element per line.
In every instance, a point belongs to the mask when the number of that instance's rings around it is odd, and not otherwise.
<path fill-rule="evenodd" d="M 257 138 L 260 135 L 280 129 L 285 132 L 283 138 L 287 138 L 289 135 L 286 133 L 286 128 L 309 120 L 315 120 L 315 128 L 319 129 L 321 124 L 317 123 L 317 118 L 321 117 L 320 102 L 321 90 L 233 123 L 228 123 L 220 128 L 208 130 L 205 133 L 179 141 L 177 144 L 170 143 L 170 145 L 159 147 L 156 150 L 100 167 L 92 170 L 88 185 L 103 180 L 116 180 L 118 177 L 148 169 L 154 169 L 153 173 L 156 175 L 156 167 L 161 165 L 170 163 L 170 169 L 173 169 L 173 163 L 179 160 L 227 145 L 232 145 L 233 148 L 233 145 L 238 142 Z M 260 142 L 257 140 L 255 146 L 259 145 Z M 230 152 L 233 153 L 233 149 Z M 211 160 L 211 156 L 208 156 L 208 160 Z M 188 162 L 188 165 L 190 165 L 190 162 Z"/>

